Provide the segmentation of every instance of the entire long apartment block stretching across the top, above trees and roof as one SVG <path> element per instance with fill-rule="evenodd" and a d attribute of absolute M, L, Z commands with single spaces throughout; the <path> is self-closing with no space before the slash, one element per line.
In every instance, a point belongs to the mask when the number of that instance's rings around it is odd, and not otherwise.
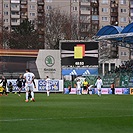
<path fill-rule="evenodd" d="M 91 38 L 106 25 L 125 27 L 133 20 L 133 0 L 1 0 L 3 26 L 12 31 L 28 19 L 35 24 L 44 45 L 45 15 L 59 9 L 77 20 L 80 39 Z"/>

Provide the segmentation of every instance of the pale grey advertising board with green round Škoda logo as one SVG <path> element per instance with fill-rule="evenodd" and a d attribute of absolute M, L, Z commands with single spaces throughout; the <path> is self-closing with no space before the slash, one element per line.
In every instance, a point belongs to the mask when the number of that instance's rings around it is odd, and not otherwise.
<path fill-rule="evenodd" d="M 36 65 L 41 79 L 45 79 L 46 76 L 51 79 L 61 79 L 59 50 L 39 50 Z"/>

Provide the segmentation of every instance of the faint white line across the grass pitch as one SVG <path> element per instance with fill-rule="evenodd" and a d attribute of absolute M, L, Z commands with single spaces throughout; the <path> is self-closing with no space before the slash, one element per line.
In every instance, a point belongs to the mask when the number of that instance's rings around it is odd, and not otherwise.
<path fill-rule="evenodd" d="M 0 120 L 0 122 L 12 122 L 12 121 L 42 121 L 42 120 L 59 120 L 59 119 L 85 119 L 85 118 L 104 118 L 104 117 L 133 117 L 133 115 L 120 115 L 120 116 L 90 116 L 90 117 L 62 117 L 62 118 L 39 118 L 39 119 L 34 119 L 34 118 L 25 118 L 25 119 L 6 119 L 6 120 Z"/>

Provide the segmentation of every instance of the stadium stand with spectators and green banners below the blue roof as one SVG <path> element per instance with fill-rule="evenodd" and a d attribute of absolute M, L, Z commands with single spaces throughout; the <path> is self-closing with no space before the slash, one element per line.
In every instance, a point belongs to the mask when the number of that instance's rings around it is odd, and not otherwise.
<path fill-rule="evenodd" d="M 127 61 L 103 76 L 103 87 L 110 87 L 113 82 L 116 87 L 133 87 L 133 63 Z"/>

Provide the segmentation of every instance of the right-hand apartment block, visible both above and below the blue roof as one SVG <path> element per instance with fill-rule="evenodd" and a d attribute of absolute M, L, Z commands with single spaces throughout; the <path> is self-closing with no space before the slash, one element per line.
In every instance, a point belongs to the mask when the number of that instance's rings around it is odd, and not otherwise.
<path fill-rule="evenodd" d="M 131 0 L 99 0 L 99 28 L 114 25 L 124 28 L 130 21 Z M 111 47 L 113 58 L 119 58 L 120 63 L 130 59 L 130 49 L 118 46 Z M 112 45 L 111 45 L 112 46 Z"/>

